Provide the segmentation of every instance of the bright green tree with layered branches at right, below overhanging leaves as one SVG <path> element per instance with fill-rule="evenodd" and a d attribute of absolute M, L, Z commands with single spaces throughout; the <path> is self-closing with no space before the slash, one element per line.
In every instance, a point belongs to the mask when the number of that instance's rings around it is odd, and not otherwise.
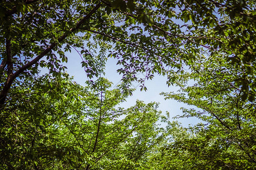
<path fill-rule="evenodd" d="M 164 95 L 199 108 L 183 108 L 180 117 L 197 117 L 204 123 L 191 127 L 186 138 L 175 139 L 163 153 L 167 158 L 179 156 L 189 169 L 254 169 L 255 92 L 249 90 L 247 99 L 248 90 L 237 83 L 243 73 L 218 55 L 205 58 L 193 70 L 180 78 L 195 84 L 180 83 L 180 94 Z"/>

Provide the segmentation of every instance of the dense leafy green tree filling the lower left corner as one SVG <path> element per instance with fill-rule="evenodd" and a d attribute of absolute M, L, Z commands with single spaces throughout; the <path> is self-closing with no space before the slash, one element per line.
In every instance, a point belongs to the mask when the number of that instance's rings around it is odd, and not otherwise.
<path fill-rule="evenodd" d="M 78 147 L 63 138 L 67 129 L 59 130 L 63 121 L 79 117 L 84 108 L 79 98 L 86 88 L 68 79 L 26 78 L 11 89 L 1 111 L 1 169 L 44 169 L 63 156 L 66 161 L 81 156 Z"/>

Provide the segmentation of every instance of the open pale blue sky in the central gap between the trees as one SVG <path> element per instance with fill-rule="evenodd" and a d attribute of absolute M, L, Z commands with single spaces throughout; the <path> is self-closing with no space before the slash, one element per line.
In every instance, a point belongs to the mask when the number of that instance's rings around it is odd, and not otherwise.
<path fill-rule="evenodd" d="M 81 66 L 81 58 L 79 54 L 73 50 L 72 53 L 66 54 L 68 57 L 68 62 L 63 63 L 63 65 L 67 66 L 67 72 L 69 75 L 74 77 L 74 81 L 76 83 L 81 84 L 82 86 L 85 85 L 85 81 L 88 80 L 86 77 L 86 73 Z M 121 75 L 117 73 L 117 69 L 120 66 L 116 65 L 116 60 L 114 58 L 109 58 L 108 62 L 106 63 L 106 70 L 105 70 L 105 78 L 109 79 L 113 82 L 113 88 L 120 83 Z M 47 70 L 42 70 L 41 74 L 48 73 Z M 144 76 L 143 74 L 139 76 Z M 155 75 L 152 80 L 147 80 L 145 86 L 147 87 L 147 91 L 140 91 L 139 83 L 133 82 L 133 87 L 136 90 L 133 92 L 133 96 L 127 98 L 126 102 L 120 104 L 120 107 L 129 108 L 135 105 L 136 100 L 142 100 L 144 103 L 150 103 L 155 101 L 159 103 L 159 110 L 162 111 L 163 114 L 166 114 L 166 111 L 170 112 L 170 118 L 181 115 L 182 111 L 180 110 L 181 107 L 185 108 L 195 108 L 188 106 L 184 103 L 179 103 L 175 100 L 164 100 L 164 96 L 159 95 L 161 92 L 176 92 L 179 88 L 175 86 L 168 87 L 166 84 L 167 78 L 165 76 Z M 200 120 L 197 118 L 179 118 L 176 119 L 177 121 L 181 122 L 181 125 L 184 127 L 188 127 L 189 124 L 195 125 Z"/>

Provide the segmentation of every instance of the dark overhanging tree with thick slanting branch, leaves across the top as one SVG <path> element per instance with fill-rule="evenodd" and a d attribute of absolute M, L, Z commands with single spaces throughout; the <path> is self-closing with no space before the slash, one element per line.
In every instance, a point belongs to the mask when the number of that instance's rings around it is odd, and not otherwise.
<path fill-rule="evenodd" d="M 123 80 L 142 83 L 154 73 L 172 84 L 183 65 L 203 51 L 230 57 L 255 90 L 254 1 L 2 1 L 1 104 L 11 85 L 38 65 L 57 75 L 76 49 L 88 76 L 96 73 L 93 52 L 109 51 L 123 65 Z M 113 46 L 113 48 L 112 48 Z M 139 79 L 135 73 L 146 73 Z M 249 82 L 250 83 L 249 83 Z M 146 89 L 146 88 L 144 88 Z"/>

